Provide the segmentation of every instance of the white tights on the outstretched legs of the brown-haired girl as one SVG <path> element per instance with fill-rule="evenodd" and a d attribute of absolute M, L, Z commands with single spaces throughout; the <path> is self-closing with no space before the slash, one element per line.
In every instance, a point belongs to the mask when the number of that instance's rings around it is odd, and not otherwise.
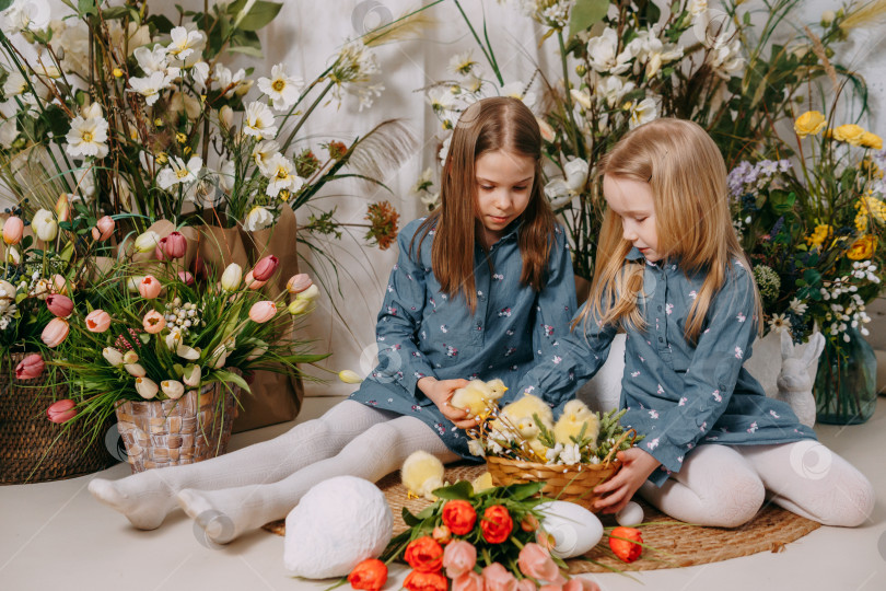
<path fill-rule="evenodd" d="M 458 459 L 419 419 L 345 401 L 269 441 L 116 482 L 94 478 L 89 488 L 142 530 L 159 528 L 182 506 L 209 540 L 224 544 L 284 518 L 317 483 L 339 475 L 374 483 L 417 450 L 444 464 Z"/>

